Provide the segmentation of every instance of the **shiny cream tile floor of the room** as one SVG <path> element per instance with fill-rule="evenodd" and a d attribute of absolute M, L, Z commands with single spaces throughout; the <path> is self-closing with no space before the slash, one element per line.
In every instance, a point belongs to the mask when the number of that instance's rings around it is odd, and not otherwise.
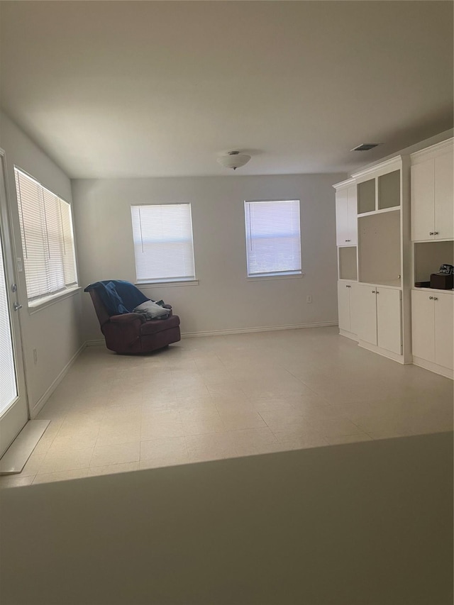
<path fill-rule="evenodd" d="M 453 382 L 337 328 L 187 338 L 129 357 L 84 350 L 0 487 L 453 428 Z"/>

